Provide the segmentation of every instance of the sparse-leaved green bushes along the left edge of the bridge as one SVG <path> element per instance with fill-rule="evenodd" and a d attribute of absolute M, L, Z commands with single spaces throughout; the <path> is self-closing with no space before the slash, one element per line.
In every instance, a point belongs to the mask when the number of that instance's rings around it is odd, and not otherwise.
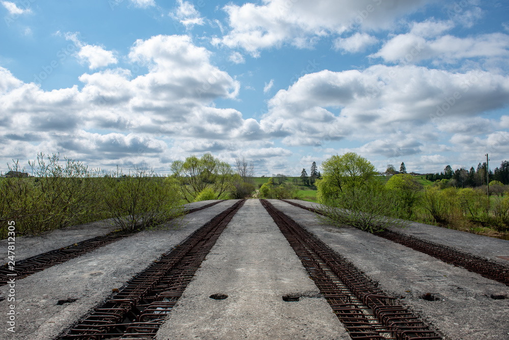
<path fill-rule="evenodd" d="M 48 233 L 66 226 L 111 218 L 119 229 L 150 228 L 182 213 L 182 200 L 147 166 L 104 173 L 60 155 L 38 154 L 32 176 L 0 177 L 0 239 L 7 221 L 16 235 Z M 11 174 L 26 174 L 18 162 Z"/>

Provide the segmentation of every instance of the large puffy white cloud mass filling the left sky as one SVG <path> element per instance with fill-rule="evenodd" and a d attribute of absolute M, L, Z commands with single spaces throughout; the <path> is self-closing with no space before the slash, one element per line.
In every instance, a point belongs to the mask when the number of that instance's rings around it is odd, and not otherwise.
<path fill-rule="evenodd" d="M 126 69 L 106 69 L 81 75 L 79 89 L 52 91 L 24 83 L 0 67 L 0 139 L 9 135 L 23 145 L 17 151 L 12 146 L 0 149 L 6 155 L 58 150 L 84 161 L 101 155 L 122 164 L 143 157 L 171 159 L 172 138 L 182 144 L 184 154 L 207 146 L 237 150 L 243 141 L 260 139 L 264 133 L 256 120 L 214 107 L 214 99 L 235 98 L 240 84 L 213 66 L 209 56 L 188 36 L 137 40 L 128 57 L 145 64 L 148 73 L 133 76 Z M 102 129 L 109 132 L 90 132 Z M 34 140 L 43 149 L 37 150 Z M 188 143 L 191 149 L 186 149 L 186 140 L 199 144 Z M 211 145 L 211 140 L 221 142 Z"/>

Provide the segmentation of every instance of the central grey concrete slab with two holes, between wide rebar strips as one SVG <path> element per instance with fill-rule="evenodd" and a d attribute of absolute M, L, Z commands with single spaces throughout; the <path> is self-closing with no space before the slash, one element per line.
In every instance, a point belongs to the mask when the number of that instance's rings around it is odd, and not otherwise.
<path fill-rule="evenodd" d="M 156 336 L 241 338 L 350 338 L 258 200 L 233 217 Z"/>

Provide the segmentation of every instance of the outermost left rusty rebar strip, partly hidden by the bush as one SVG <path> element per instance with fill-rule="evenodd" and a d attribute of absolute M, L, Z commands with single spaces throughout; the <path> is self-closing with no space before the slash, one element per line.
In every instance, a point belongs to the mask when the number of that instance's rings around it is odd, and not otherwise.
<path fill-rule="evenodd" d="M 210 208 L 223 201 L 224 200 L 213 202 L 200 208 L 189 209 L 184 211 L 183 214 L 187 215 L 199 210 Z M 12 268 L 9 266 L 9 264 L 5 264 L 4 267 L 0 269 L 0 286 L 6 285 L 8 278 L 15 277 L 16 280 L 22 279 L 26 276 L 43 271 L 46 268 L 50 268 L 54 265 L 58 265 L 60 263 L 64 263 L 71 259 L 77 258 L 78 256 L 86 254 L 99 247 L 132 236 L 138 232 L 140 232 L 140 230 L 132 232 L 112 232 L 106 235 L 96 236 L 88 240 L 74 243 L 60 249 L 53 249 L 45 253 L 38 254 L 31 258 L 17 262 Z M 13 276 L 12 274 L 16 275 Z"/>

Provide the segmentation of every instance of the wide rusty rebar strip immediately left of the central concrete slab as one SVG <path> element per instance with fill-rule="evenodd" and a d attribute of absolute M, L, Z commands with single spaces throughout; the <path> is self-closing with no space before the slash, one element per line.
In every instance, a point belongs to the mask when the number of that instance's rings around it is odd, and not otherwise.
<path fill-rule="evenodd" d="M 59 339 L 152 339 L 245 200 L 215 216 Z"/>

